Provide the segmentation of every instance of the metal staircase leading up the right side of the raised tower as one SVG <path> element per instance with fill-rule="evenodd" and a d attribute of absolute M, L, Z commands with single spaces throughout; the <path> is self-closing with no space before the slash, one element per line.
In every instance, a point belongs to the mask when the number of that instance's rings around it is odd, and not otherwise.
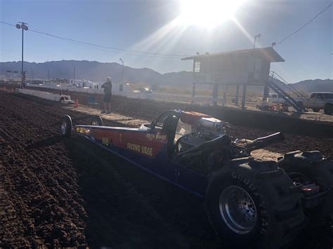
<path fill-rule="evenodd" d="M 280 83 L 280 86 L 279 86 Z M 281 87 L 282 83 L 282 87 Z M 296 101 L 292 96 L 290 96 L 285 88 L 296 95 L 297 97 L 305 97 L 299 91 L 294 89 L 285 79 L 283 79 L 280 75 L 275 72 L 270 72 L 270 80 L 268 81 L 268 86 L 278 93 L 279 97 L 282 97 L 288 105 L 294 107 L 297 112 L 307 112 L 307 110 L 303 107 L 303 102 Z"/>

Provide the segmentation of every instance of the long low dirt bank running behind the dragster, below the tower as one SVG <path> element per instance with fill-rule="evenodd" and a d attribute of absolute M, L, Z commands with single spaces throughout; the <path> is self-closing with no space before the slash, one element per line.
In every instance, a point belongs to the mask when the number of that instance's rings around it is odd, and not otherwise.
<path fill-rule="evenodd" d="M 55 89 L 29 88 L 60 93 L 60 90 Z M 69 93 L 73 100 L 79 100 L 81 104 L 87 104 L 89 97 L 96 97 L 97 102 L 103 102 L 103 95 L 100 94 L 79 93 L 70 90 L 63 90 L 63 93 Z M 236 126 L 247 126 L 264 130 L 280 130 L 284 133 L 300 135 L 333 137 L 333 122 L 301 119 L 297 113 L 287 115 L 283 113 L 253 110 L 242 111 L 233 107 L 212 107 L 205 105 L 191 105 L 181 102 L 133 99 L 119 95 L 112 96 L 112 108 L 117 110 L 117 112 L 129 114 L 130 116 L 145 116 L 148 119 L 156 118 L 158 114 L 164 112 L 166 109 L 182 109 L 185 111 L 210 114 L 216 119 L 223 119 Z"/>

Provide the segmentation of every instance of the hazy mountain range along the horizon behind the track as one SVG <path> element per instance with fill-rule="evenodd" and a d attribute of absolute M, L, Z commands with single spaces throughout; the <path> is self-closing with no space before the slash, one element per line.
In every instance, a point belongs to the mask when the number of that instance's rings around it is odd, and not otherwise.
<path fill-rule="evenodd" d="M 48 71 L 50 79 L 73 79 L 73 67 L 75 66 L 76 79 L 88 79 L 90 81 L 103 82 L 107 76 L 112 76 L 112 81 L 118 83 L 122 80 L 122 65 L 112 63 L 102 63 L 87 60 L 60 60 L 51 62 L 24 62 L 25 71 L 28 78 L 48 79 Z M 0 62 L 0 74 L 6 75 L 7 71 L 20 72 L 20 62 Z M 125 83 L 143 83 L 150 86 L 177 86 L 189 87 L 192 82 L 192 72 L 170 72 L 160 74 L 149 68 L 136 69 L 124 66 L 124 82 Z M 303 93 L 311 93 L 313 91 L 333 92 L 332 79 L 315 79 L 300 81 L 292 84 L 296 90 Z"/>

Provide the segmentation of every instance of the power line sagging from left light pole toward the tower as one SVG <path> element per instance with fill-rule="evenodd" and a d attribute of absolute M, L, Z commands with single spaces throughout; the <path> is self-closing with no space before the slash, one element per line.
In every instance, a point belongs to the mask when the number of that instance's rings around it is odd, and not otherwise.
<path fill-rule="evenodd" d="M 2 21 L 0 21 L 0 22 L 5 24 L 5 25 L 10 25 L 10 26 L 15 27 L 15 25 L 11 25 L 8 22 L 2 22 Z M 102 45 L 98 45 L 98 44 L 90 43 L 90 42 L 86 42 L 86 41 L 78 41 L 78 40 L 74 40 L 74 39 L 65 38 L 65 37 L 62 37 L 62 36 L 56 36 L 54 34 L 49 34 L 49 33 L 41 32 L 41 31 L 34 30 L 34 29 L 30 29 L 30 31 L 34 32 L 34 33 L 38 33 L 38 34 L 44 34 L 46 36 L 51 36 L 51 37 L 56 38 L 56 39 L 62 39 L 62 40 L 70 41 L 70 42 L 73 42 L 73 43 L 81 43 L 81 44 L 93 46 L 93 47 L 96 47 L 96 48 L 112 49 L 112 50 L 119 51 L 119 52 L 122 52 L 122 53 L 141 53 L 141 54 L 143 54 L 143 55 L 134 55 L 134 56 L 160 55 L 159 58 L 173 58 L 173 57 L 178 58 L 178 57 L 190 56 L 190 55 L 179 55 L 179 54 L 150 53 L 150 52 L 145 52 L 145 51 L 126 51 L 126 50 L 123 50 L 123 49 L 120 49 L 120 48 L 102 46 Z M 133 55 L 133 54 L 126 54 L 126 55 Z M 162 57 L 162 56 L 164 56 L 164 57 Z M 157 56 L 150 56 L 150 57 L 157 57 Z"/>

